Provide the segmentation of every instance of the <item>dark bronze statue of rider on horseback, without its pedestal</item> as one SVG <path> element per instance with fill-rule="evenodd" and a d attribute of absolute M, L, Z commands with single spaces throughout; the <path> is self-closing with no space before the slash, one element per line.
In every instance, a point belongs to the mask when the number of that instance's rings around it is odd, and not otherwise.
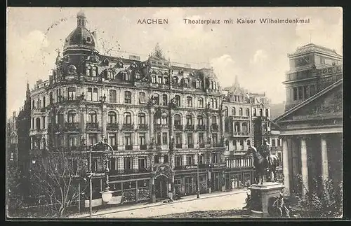
<path fill-rule="evenodd" d="M 277 155 L 272 155 L 270 153 L 270 145 L 267 144 L 267 139 L 263 139 L 263 145 L 260 147 L 260 152 L 251 146 L 251 141 L 247 141 L 247 146 L 249 147 L 245 155 L 253 155 L 253 166 L 257 172 L 257 183 L 260 182 L 261 176 L 261 185 L 263 184 L 263 175 L 266 171 L 273 172 L 272 182 L 276 178 L 276 168 L 279 166 L 279 159 Z"/>

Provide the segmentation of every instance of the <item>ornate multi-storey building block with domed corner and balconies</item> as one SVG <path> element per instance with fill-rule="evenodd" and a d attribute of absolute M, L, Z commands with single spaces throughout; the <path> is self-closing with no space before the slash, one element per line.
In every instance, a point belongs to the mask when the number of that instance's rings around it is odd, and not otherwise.
<path fill-rule="evenodd" d="M 253 94 L 246 101 L 244 93 L 232 92 L 223 99 L 213 69 L 173 64 L 158 46 L 140 61 L 100 55 L 95 45 L 79 13 L 56 68 L 30 94 L 32 159 L 63 151 L 74 153 L 72 164 L 79 167 L 89 146 L 105 140 L 115 150 L 110 187 L 123 202 L 196 194 L 197 168 L 200 193 L 252 181 L 251 157 L 242 154 L 253 138 L 252 112 L 269 114 L 265 98 Z M 100 157 L 93 157 L 92 169 L 93 196 L 99 197 Z"/>

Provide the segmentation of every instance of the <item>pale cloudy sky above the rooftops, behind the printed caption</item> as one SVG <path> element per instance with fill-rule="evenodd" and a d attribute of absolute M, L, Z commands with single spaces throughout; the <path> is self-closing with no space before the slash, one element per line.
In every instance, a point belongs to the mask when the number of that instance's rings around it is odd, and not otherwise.
<path fill-rule="evenodd" d="M 27 81 L 47 80 L 57 50 L 77 27 L 84 10 L 86 27 L 97 31 L 98 50 L 116 57 L 147 59 L 159 43 L 166 59 L 212 66 L 220 86 L 234 83 L 265 92 L 278 104 L 285 100 L 282 82 L 289 71 L 288 53 L 298 46 L 324 45 L 343 55 L 342 8 L 7 8 L 6 113 L 25 101 Z M 168 24 L 138 24 L 161 18 Z M 220 20 L 220 24 L 186 24 L 183 19 Z M 233 24 L 223 24 L 232 18 Z M 237 19 L 256 20 L 237 24 Z M 309 24 L 260 24 L 260 18 L 310 19 Z"/>

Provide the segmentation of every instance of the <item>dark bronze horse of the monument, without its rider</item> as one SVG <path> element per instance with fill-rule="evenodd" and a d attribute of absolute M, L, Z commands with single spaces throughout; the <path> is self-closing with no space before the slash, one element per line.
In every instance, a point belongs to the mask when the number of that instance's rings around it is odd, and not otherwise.
<path fill-rule="evenodd" d="M 255 147 L 251 146 L 250 141 L 247 141 L 247 145 L 249 146 L 248 150 L 246 151 L 245 155 L 253 155 L 253 166 L 256 168 L 257 172 L 257 183 L 260 183 L 260 176 L 261 176 L 261 185 L 263 184 L 263 174 L 265 174 L 266 170 L 268 169 L 270 172 L 273 172 L 273 179 L 276 178 L 276 168 L 279 166 L 279 160 L 277 155 L 270 155 L 270 162 L 267 161 L 265 157 L 263 157 Z"/>

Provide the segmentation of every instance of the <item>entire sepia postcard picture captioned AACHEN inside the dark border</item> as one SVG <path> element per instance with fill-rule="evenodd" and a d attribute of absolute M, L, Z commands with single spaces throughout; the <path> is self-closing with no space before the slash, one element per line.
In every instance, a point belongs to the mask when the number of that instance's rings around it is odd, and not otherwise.
<path fill-rule="evenodd" d="M 7 220 L 343 218 L 343 8 L 6 13 Z"/>

